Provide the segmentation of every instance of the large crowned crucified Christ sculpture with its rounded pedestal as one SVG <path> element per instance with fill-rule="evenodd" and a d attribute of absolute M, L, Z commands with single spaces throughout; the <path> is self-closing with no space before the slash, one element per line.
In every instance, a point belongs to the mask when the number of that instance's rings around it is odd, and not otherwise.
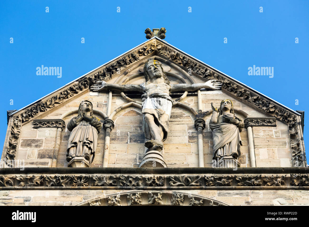
<path fill-rule="evenodd" d="M 163 141 L 167 138 L 168 121 L 171 116 L 173 91 L 195 91 L 202 88 L 220 90 L 222 84 L 216 80 L 196 84 L 170 84 L 159 61 L 149 58 L 144 66 L 145 83 L 142 84 L 108 84 L 97 81 L 91 90 L 139 91 L 142 95 L 142 129 L 145 133 L 145 146 L 148 148 L 139 167 L 166 167 L 163 156 Z"/>

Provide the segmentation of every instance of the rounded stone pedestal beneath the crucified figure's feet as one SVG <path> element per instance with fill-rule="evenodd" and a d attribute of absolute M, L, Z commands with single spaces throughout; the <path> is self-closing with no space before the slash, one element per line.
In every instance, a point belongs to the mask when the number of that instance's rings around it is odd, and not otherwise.
<path fill-rule="evenodd" d="M 143 160 L 139 163 L 138 167 L 164 167 L 166 168 L 166 163 L 164 162 L 162 154 L 157 150 L 146 151 Z"/>

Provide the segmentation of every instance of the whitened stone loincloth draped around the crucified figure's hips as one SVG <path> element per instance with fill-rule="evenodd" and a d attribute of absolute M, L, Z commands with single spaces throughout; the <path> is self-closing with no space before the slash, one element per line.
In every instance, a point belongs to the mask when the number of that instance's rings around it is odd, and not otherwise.
<path fill-rule="evenodd" d="M 155 124 L 158 125 L 163 131 L 162 141 L 165 141 L 167 138 L 168 121 L 171 116 L 173 99 L 166 93 L 156 92 L 151 95 L 142 95 L 142 100 L 142 113 L 148 113 L 154 116 Z M 142 129 L 145 133 L 145 137 L 150 139 L 150 128 L 145 121 L 145 116 L 142 123 Z"/>

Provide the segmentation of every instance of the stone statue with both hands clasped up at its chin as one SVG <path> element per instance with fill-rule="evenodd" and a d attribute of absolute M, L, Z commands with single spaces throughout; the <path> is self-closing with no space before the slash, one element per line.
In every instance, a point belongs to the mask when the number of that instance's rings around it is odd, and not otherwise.
<path fill-rule="evenodd" d="M 78 116 L 73 117 L 67 125 L 68 130 L 71 131 L 66 155 L 68 166 L 89 167 L 91 165 L 101 127 L 99 118 L 93 117 L 92 103 L 87 100 L 82 101 L 78 107 Z M 73 161 L 84 162 L 86 165 L 77 165 L 77 163 L 72 165 Z"/>

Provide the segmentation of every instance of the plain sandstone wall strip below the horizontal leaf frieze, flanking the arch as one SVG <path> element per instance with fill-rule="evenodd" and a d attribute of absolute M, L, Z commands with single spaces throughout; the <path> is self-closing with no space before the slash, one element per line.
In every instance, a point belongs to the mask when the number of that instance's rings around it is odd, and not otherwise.
<path fill-rule="evenodd" d="M 2 190 L 0 191 L 1 205 L 76 205 L 80 202 L 99 196 L 114 193 L 134 191 L 125 190 Z M 201 195 L 234 206 L 256 205 L 309 205 L 309 195 L 306 190 L 181 190 L 173 191 Z M 126 201 L 121 201 L 126 203 Z"/>

